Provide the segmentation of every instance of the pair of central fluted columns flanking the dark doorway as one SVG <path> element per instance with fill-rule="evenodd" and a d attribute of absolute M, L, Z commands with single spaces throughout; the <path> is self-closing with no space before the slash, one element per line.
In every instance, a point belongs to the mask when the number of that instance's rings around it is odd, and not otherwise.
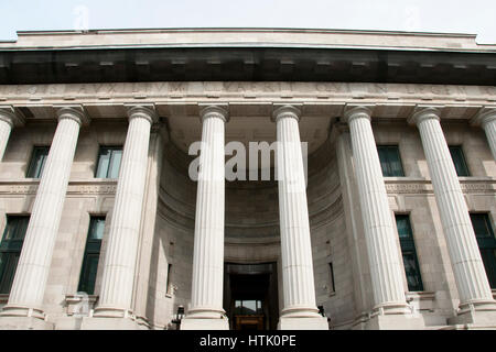
<path fill-rule="evenodd" d="M 228 113 L 220 107 L 201 112 L 202 152 L 196 194 L 192 299 L 181 328 L 228 329 L 223 319 L 225 152 Z M 277 167 L 283 309 L 280 329 L 328 329 L 315 304 L 300 111 L 283 106 L 273 113 L 277 123 Z M 293 319 L 296 318 L 296 319 Z M 305 324 L 301 324 L 305 319 Z"/>

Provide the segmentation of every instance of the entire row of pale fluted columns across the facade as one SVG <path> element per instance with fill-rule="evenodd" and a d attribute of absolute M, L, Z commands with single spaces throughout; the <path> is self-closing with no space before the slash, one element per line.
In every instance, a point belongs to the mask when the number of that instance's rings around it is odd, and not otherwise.
<path fill-rule="evenodd" d="M 408 306 L 402 285 L 402 267 L 396 248 L 395 228 L 370 124 L 368 107 L 355 107 L 344 118 L 349 124 L 353 154 L 375 309 L 405 314 Z M 0 156 L 15 114 L 0 107 Z M 31 220 L 19 258 L 9 301 L 2 316 L 43 318 L 42 302 L 53 248 L 65 200 L 79 128 L 88 123 L 83 109 L 62 107 Z M 123 148 L 105 257 L 103 284 L 95 317 L 126 318 L 132 312 L 132 286 L 139 227 L 144 197 L 150 130 L 157 116 L 152 107 L 128 107 L 129 128 Z M 228 113 L 222 107 L 206 107 L 202 113 L 203 148 L 197 185 L 192 300 L 183 328 L 227 328 L 212 326 L 224 316 L 224 130 Z M 274 111 L 279 172 L 279 208 L 283 310 L 280 328 L 288 321 L 310 319 L 312 329 L 326 328 L 320 320 L 314 292 L 303 158 L 300 148 L 300 111 L 284 106 Z M 493 307 L 495 301 L 478 252 L 468 210 L 451 161 L 436 109 L 418 111 L 411 119 L 419 128 L 434 194 L 453 263 L 461 307 Z M 496 112 L 481 116 L 496 157 Z M 492 309 L 492 308 L 490 308 Z M 289 319 L 287 319 L 289 318 Z M 291 319 L 299 318 L 299 319 Z M 285 319 L 285 320 L 284 320 Z M 313 319 L 313 320 L 312 320 Z M 323 319 L 323 318 L 322 318 Z M 294 326 L 294 327 L 298 327 Z M 299 328 L 302 328 L 301 326 Z"/>

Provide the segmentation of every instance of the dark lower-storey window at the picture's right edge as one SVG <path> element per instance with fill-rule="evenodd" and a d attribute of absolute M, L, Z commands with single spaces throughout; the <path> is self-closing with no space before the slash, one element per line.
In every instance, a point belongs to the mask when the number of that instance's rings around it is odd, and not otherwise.
<path fill-rule="evenodd" d="M 496 239 L 487 213 L 471 213 L 472 227 L 490 288 L 496 288 Z"/>

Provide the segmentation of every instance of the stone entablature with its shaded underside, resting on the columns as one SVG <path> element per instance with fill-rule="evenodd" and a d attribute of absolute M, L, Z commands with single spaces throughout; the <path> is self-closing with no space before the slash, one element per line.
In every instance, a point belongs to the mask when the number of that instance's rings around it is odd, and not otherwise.
<path fill-rule="evenodd" d="M 367 106 L 375 121 L 407 121 L 419 107 L 432 106 L 446 122 L 474 121 L 496 107 L 496 87 L 354 82 L 125 82 L 0 86 L 0 105 L 33 122 L 56 120 L 63 106 L 79 106 L 91 121 L 127 120 L 129 106 L 153 106 L 171 140 L 183 151 L 200 140 L 205 106 L 223 106 L 230 119 L 226 142 L 276 140 L 270 120 L 281 105 L 298 106 L 300 133 L 309 152 L 328 138 L 331 125 L 349 107 Z"/>

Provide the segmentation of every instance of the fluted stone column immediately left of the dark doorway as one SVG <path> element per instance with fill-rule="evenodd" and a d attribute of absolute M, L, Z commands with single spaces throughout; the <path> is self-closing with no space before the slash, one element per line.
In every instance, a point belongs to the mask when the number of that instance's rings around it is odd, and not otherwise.
<path fill-rule="evenodd" d="M 193 283 L 182 330 L 227 330 L 223 309 L 225 152 L 227 111 L 206 107 L 201 112 L 202 150 L 196 191 Z"/>

